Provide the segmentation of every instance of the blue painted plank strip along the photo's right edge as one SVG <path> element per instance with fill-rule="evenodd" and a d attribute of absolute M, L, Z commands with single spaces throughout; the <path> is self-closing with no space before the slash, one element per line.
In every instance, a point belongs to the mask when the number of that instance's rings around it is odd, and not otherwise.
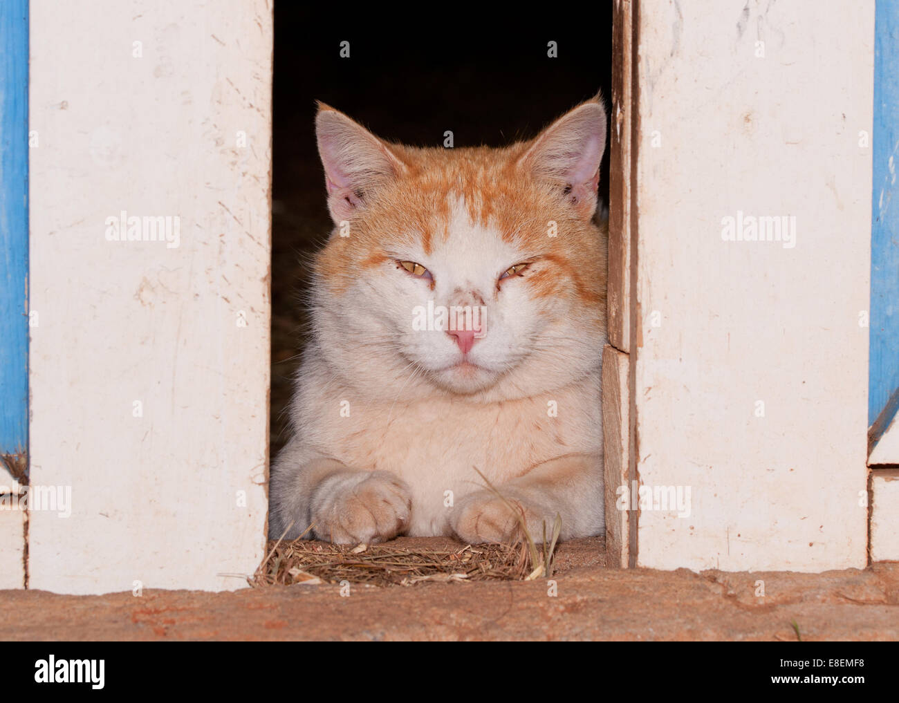
<path fill-rule="evenodd" d="M 899 389 L 899 3 L 877 0 L 868 424 Z M 895 201 L 894 201 L 895 200 Z M 881 418 L 881 426 L 889 418 Z"/>

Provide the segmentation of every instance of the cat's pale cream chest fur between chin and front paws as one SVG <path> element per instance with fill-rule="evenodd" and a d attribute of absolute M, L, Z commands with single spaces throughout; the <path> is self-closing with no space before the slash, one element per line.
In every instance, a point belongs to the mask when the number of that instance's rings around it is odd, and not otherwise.
<path fill-rule="evenodd" d="M 477 405 L 463 400 L 353 404 L 322 423 L 335 458 L 385 470 L 413 494 L 412 536 L 451 533 L 449 517 L 464 495 L 521 476 L 550 458 L 601 447 L 599 398 L 592 384 L 562 393 Z M 325 439 L 325 438 L 323 438 Z"/>

